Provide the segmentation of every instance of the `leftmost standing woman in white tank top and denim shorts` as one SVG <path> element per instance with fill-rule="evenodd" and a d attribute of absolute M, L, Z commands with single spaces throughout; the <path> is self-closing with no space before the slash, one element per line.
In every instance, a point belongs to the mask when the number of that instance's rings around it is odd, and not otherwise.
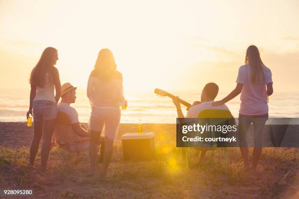
<path fill-rule="evenodd" d="M 29 83 L 30 105 L 26 116 L 33 114 L 34 134 L 30 145 L 29 165 L 34 165 L 35 156 L 43 135 L 41 150 L 41 171 L 46 170 L 51 147 L 51 137 L 54 132 L 57 117 L 57 102 L 61 95 L 61 84 L 56 67 L 57 50 L 47 47 L 37 65 L 32 69 Z M 55 88 L 55 95 L 54 95 Z"/>

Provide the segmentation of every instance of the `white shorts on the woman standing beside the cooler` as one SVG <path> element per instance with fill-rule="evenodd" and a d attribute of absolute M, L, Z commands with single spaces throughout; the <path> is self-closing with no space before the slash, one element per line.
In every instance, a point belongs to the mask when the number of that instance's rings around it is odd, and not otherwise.
<path fill-rule="evenodd" d="M 114 141 L 120 122 L 121 111 L 114 109 L 93 109 L 89 119 L 92 131 L 102 132 L 105 126 L 105 137 Z"/>

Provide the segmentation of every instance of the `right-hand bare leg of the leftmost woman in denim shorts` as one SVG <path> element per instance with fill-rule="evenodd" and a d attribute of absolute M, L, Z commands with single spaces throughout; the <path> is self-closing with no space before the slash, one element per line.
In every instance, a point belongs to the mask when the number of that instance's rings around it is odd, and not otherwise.
<path fill-rule="evenodd" d="M 51 137 L 56 125 L 56 119 L 43 122 L 43 145 L 41 150 L 42 172 L 47 168 L 48 157 L 51 149 Z"/>

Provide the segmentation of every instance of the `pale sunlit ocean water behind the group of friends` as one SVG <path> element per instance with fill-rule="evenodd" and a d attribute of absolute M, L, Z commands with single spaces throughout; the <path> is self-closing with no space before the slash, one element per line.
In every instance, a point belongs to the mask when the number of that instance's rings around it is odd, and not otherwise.
<path fill-rule="evenodd" d="M 192 104 L 200 100 L 200 91 L 167 90 L 173 95 Z M 0 90 L 0 122 L 24 122 L 29 107 L 29 89 Z M 228 92 L 219 92 L 216 100 L 222 99 Z M 88 122 L 90 105 L 85 89 L 77 89 L 76 103 L 71 104 L 79 114 L 80 122 Z M 127 110 L 122 110 L 121 123 L 176 123 L 176 109 L 171 98 L 159 97 L 153 91 L 125 94 L 128 100 Z M 237 117 L 240 106 L 239 96 L 226 104 Z M 187 111 L 182 105 L 183 113 Z M 269 98 L 270 117 L 299 117 L 299 93 L 274 93 Z"/>

